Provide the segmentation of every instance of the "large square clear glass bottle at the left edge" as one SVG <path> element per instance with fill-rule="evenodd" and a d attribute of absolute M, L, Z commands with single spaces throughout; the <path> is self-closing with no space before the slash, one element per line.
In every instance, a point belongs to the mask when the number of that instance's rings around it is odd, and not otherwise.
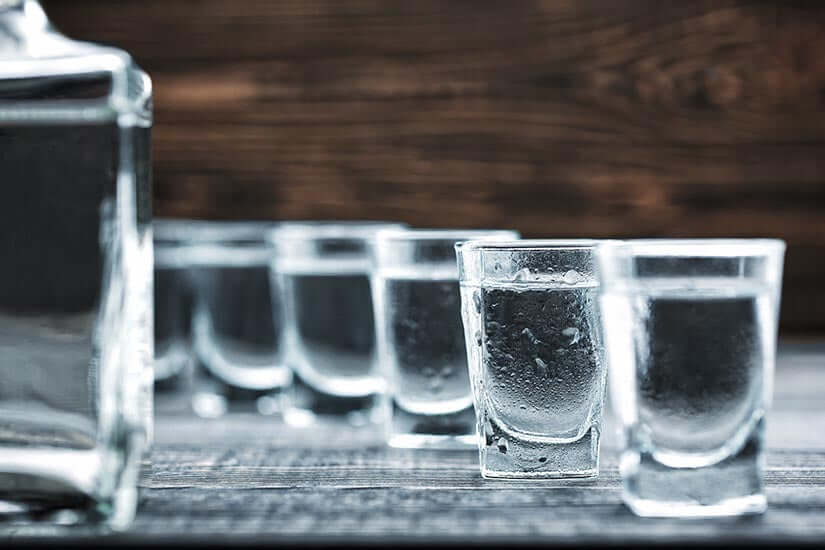
<path fill-rule="evenodd" d="M 151 440 L 151 81 L 0 0 L 0 519 L 125 528 Z"/>

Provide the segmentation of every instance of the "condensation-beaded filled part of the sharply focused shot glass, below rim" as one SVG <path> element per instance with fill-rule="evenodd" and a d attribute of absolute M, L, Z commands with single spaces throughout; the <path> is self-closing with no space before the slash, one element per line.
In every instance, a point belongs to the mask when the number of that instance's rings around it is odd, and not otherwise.
<path fill-rule="evenodd" d="M 487 477 L 598 473 L 606 367 L 594 283 L 485 283 L 471 375 Z"/>

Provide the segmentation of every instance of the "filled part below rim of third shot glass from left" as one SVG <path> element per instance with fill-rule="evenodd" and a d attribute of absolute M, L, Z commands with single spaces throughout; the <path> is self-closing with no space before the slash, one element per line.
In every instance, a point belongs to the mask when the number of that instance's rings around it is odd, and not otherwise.
<path fill-rule="evenodd" d="M 382 421 L 369 274 L 362 270 L 284 270 L 286 361 L 293 372 L 288 421 L 343 417 Z"/>

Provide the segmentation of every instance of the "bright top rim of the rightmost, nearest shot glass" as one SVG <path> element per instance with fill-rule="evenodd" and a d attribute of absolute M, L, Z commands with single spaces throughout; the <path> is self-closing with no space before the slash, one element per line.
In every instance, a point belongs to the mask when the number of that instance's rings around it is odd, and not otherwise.
<path fill-rule="evenodd" d="M 662 238 L 605 241 L 602 247 L 642 257 L 741 258 L 781 254 L 787 245 L 768 238 Z"/>

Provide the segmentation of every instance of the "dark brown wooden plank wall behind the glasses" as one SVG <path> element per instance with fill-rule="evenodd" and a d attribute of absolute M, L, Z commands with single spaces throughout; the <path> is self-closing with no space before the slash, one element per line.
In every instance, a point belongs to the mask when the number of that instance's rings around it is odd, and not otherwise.
<path fill-rule="evenodd" d="M 825 332 L 825 3 L 44 5 L 152 75 L 158 216 L 780 237 Z"/>

